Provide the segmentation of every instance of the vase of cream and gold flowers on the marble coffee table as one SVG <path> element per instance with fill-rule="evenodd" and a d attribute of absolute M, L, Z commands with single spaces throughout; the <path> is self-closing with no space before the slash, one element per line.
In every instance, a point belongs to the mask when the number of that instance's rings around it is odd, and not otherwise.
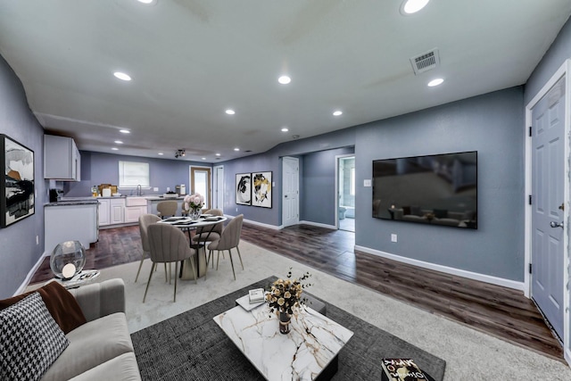
<path fill-rule="evenodd" d="M 292 279 L 290 268 L 286 279 L 277 279 L 266 294 L 269 311 L 276 313 L 279 318 L 279 333 L 285 335 L 290 332 L 292 315 L 299 311 L 303 303 L 303 289 L 311 286 L 306 282 L 309 277 L 310 273 L 306 272 L 302 277 Z"/>

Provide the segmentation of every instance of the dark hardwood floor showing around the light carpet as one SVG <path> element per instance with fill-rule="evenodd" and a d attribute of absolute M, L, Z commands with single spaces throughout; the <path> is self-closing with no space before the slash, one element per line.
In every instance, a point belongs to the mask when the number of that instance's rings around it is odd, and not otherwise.
<path fill-rule="evenodd" d="M 534 302 L 510 288 L 421 269 L 354 251 L 354 233 L 299 225 L 281 230 L 244 223 L 242 239 L 314 269 L 367 286 L 425 311 L 459 321 L 510 343 L 563 360 L 559 341 Z M 86 269 L 140 260 L 138 227 L 101 230 Z M 52 277 L 46 259 L 30 283 Z"/>

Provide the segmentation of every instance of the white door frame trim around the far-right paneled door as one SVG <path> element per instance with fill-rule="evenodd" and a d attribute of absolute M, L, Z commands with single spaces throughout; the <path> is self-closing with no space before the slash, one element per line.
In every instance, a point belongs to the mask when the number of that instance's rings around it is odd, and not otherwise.
<path fill-rule="evenodd" d="M 525 261 L 524 261 L 524 294 L 527 297 L 531 296 L 532 281 L 528 272 L 528 266 L 532 263 L 532 206 L 527 203 L 527 195 L 532 195 L 532 142 L 528 138 L 528 128 L 532 125 L 532 109 L 534 106 L 546 95 L 551 87 L 553 87 L 559 79 L 566 76 L 565 79 L 565 131 L 564 131 L 564 173 L 562 176 L 566 179 L 564 181 L 563 202 L 565 209 L 563 211 L 563 221 L 565 221 L 565 233 L 563 235 L 563 252 L 566 253 L 563 257 L 563 348 L 565 360 L 567 364 L 571 365 L 571 322 L 569 316 L 569 290 L 567 285 L 569 283 L 569 226 L 571 220 L 569 219 L 569 209 L 571 207 L 570 199 L 570 168 L 569 159 L 571 158 L 571 59 L 567 59 L 559 67 L 559 69 L 551 76 L 542 89 L 534 96 L 534 98 L 525 106 Z"/>

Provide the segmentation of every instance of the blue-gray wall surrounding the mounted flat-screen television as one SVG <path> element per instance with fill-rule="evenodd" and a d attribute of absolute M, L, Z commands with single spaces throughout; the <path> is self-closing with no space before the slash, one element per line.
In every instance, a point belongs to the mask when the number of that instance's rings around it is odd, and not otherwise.
<path fill-rule="evenodd" d="M 356 244 L 516 281 L 524 278 L 523 88 L 476 96 L 357 128 Z M 373 219 L 372 161 L 478 152 L 478 229 Z M 398 242 L 391 242 L 391 234 Z"/>

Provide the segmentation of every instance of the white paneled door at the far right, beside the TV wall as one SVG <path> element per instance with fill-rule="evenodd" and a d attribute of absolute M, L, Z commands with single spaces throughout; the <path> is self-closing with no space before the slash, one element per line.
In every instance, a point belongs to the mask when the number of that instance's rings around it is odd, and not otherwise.
<path fill-rule="evenodd" d="M 565 77 L 532 109 L 532 298 L 564 333 Z"/>

